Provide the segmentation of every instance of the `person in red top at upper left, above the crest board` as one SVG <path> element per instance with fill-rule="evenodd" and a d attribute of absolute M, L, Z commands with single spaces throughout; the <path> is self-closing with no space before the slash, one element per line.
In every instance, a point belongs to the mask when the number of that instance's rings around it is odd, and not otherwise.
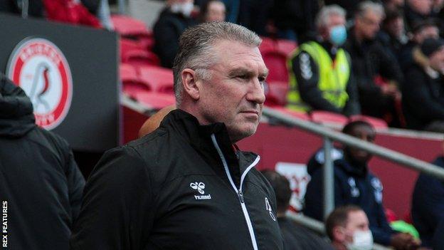
<path fill-rule="evenodd" d="M 100 21 L 80 0 L 43 0 L 43 4 L 48 20 L 102 28 Z"/>

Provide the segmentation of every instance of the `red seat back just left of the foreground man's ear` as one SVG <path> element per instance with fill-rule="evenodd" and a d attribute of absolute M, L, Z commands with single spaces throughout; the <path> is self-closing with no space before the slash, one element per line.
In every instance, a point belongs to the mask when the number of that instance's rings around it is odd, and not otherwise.
<path fill-rule="evenodd" d="M 149 83 L 157 93 L 174 93 L 173 71 L 156 66 L 139 67 L 139 77 Z"/>

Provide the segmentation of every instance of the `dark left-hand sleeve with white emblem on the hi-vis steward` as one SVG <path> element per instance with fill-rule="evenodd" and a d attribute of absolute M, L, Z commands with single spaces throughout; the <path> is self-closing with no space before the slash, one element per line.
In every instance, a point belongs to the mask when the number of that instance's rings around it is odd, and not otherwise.
<path fill-rule="evenodd" d="M 319 68 L 308 53 L 302 51 L 292 59 L 292 71 L 295 73 L 300 97 L 305 103 L 314 110 L 341 113 L 339 108 L 322 96 L 318 88 Z"/>

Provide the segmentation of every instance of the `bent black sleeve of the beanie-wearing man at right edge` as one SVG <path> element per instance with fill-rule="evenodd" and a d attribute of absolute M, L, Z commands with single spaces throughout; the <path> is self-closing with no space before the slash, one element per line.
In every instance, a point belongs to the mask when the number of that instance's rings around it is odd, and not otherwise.
<path fill-rule="evenodd" d="M 425 87 L 427 79 L 417 70 L 409 71 L 406 79 L 402 93 L 403 101 L 414 104 L 409 105 L 410 112 L 423 120 L 444 120 L 444 106 L 433 100 Z"/>

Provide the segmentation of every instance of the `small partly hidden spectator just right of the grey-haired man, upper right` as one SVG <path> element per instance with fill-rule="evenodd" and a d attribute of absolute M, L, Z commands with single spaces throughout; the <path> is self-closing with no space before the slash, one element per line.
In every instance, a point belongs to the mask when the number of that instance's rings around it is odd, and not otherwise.
<path fill-rule="evenodd" d="M 404 28 L 403 11 L 387 11 L 378 35 L 379 41 L 388 49 L 392 58 L 399 58 L 402 46 L 408 42 Z"/>

